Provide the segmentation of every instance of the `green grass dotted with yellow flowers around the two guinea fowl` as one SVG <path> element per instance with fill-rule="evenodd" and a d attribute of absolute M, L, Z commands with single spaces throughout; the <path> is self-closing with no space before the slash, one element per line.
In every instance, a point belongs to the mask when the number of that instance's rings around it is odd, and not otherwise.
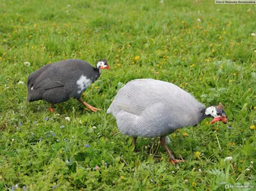
<path fill-rule="evenodd" d="M 0 190 L 256 187 L 255 5 L 13 0 L 1 1 L 0 15 Z M 44 101 L 26 103 L 29 73 L 71 58 L 108 59 L 111 70 L 83 95 L 101 111 L 74 99 L 54 113 Z M 158 139 L 139 138 L 134 153 L 106 109 L 138 78 L 173 82 L 205 105 L 222 102 L 232 129 L 205 119 L 171 134 L 169 148 L 186 160 L 177 165 Z"/>

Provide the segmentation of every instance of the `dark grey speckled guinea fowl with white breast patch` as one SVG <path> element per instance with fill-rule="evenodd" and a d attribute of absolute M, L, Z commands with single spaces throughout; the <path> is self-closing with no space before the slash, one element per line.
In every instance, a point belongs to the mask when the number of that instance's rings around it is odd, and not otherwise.
<path fill-rule="evenodd" d="M 76 98 L 88 109 L 99 109 L 81 100 L 83 92 L 100 77 L 101 69 L 110 69 L 106 59 L 100 60 L 96 67 L 80 59 L 68 59 L 42 66 L 28 77 L 27 102 L 45 100 L 52 103 L 49 111 L 54 111 L 54 104 Z"/>

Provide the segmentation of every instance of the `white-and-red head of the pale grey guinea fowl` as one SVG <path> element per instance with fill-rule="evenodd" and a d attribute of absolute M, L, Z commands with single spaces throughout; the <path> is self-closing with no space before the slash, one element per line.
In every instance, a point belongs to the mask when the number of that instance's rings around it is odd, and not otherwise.
<path fill-rule="evenodd" d="M 222 103 L 219 103 L 218 106 L 211 106 L 205 109 L 205 116 L 212 117 L 211 124 L 216 121 L 222 121 L 223 123 L 227 123 L 227 117 L 225 111 L 223 109 Z"/>

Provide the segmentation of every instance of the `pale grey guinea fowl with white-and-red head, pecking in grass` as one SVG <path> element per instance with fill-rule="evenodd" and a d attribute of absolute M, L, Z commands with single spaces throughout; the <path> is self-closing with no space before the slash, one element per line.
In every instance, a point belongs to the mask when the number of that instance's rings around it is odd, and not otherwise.
<path fill-rule="evenodd" d="M 184 126 L 194 126 L 204 118 L 211 123 L 227 123 L 223 105 L 205 106 L 191 94 L 169 82 L 154 79 L 131 80 L 121 88 L 107 111 L 116 118 L 122 134 L 133 137 L 160 137 L 160 142 L 173 164 L 177 160 L 168 149 L 165 137 Z"/>

